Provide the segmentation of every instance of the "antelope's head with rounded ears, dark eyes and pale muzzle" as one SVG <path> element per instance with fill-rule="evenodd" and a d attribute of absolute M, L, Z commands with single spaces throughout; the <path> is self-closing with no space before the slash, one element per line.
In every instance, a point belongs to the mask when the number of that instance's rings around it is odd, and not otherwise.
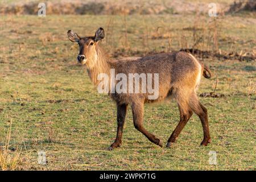
<path fill-rule="evenodd" d="M 97 61 L 97 44 L 99 40 L 104 39 L 105 33 L 103 28 L 98 28 L 94 36 L 81 38 L 76 32 L 69 30 L 68 38 L 71 42 L 79 44 L 79 55 L 77 61 L 81 64 L 86 64 L 89 67 L 93 66 Z"/>

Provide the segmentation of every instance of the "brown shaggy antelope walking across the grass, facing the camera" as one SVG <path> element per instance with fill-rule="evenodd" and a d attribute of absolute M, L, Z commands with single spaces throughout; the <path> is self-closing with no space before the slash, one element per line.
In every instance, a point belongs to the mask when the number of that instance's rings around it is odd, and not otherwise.
<path fill-rule="evenodd" d="M 193 113 L 197 114 L 203 126 L 204 139 L 201 145 L 207 146 L 211 142 L 207 109 L 200 103 L 196 95 L 201 77 L 211 77 L 208 67 L 200 63 L 190 53 L 177 51 L 158 53 L 145 57 L 127 58 L 122 60 L 110 60 L 102 51 L 99 42 L 104 39 L 103 28 L 98 28 L 94 36 L 80 37 L 76 32 L 67 32 L 69 40 L 79 44 L 77 61 L 85 64 L 90 80 L 94 85 L 100 81 L 97 76 L 100 73 L 110 75 L 110 69 L 115 74 L 123 73 L 158 73 L 159 74 L 159 97 L 149 100 L 149 93 L 110 93 L 109 96 L 117 105 L 117 135 L 109 150 L 120 147 L 122 143 L 123 125 L 125 123 L 127 106 L 131 106 L 135 129 L 144 134 L 148 140 L 163 147 L 163 142 L 154 134 L 148 132 L 143 126 L 144 104 L 147 102 L 163 101 L 167 97 L 174 98 L 179 107 L 180 121 L 172 132 L 166 147 L 172 146 L 181 130 L 187 124 Z"/>

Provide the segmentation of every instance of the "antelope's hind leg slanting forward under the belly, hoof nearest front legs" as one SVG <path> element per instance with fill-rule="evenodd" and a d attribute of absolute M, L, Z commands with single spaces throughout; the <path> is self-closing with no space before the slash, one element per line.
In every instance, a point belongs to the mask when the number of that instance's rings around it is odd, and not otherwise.
<path fill-rule="evenodd" d="M 175 130 L 172 132 L 171 137 L 168 139 L 168 143 L 166 147 L 170 147 L 172 143 L 175 142 L 176 138 L 179 136 L 181 130 L 184 128 L 184 126 L 187 124 L 189 118 L 191 118 L 191 115 L 193 114 L 192 110 L 189 108 L 187 104 L 183 104 L 181 106 L 178 104 L 179 110 L 180 110 L 180 122 L 176 126 Z"/>

